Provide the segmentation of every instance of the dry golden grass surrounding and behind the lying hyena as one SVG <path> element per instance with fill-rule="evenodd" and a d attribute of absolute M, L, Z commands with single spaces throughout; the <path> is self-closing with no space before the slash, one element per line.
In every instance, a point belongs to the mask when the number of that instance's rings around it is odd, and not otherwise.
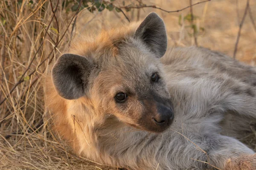
<path fill-rule="evenodd" d="M 53 11 L 57 1 L 52 0 Z M 13 93 L 0 105 L 0 169 L 117 169 L 78 158 L 65 143 L 59 142 L 58 135 L 52 135 L 48 127 L 41 80 L 70 41 L 73 23 L 69 24 L 75 12 L 66 12 L 70 6 L 62 9 L 64 1 L 59 0 L 55 17 L 50 0 L 34 0 L 31 5 L 28 0 L 0 2 L 0 101 L 21 80 Z M 137 1 L 126 0 L 127 4 L 135 2 Z M 182 3 L 169 0 L 143 2 L 167 10 L 177 10 L 189 5 L 189 0 L 182 0 Z M 245 4 L 245 0 L 212 0 L 194 6 L 193 12 L 198 16 L 194 22 L 198 28 L 204 28 L 198 35 L 198 45 L 232 56 Z M 123 6 L 122 1 L 117 0 L 116 6 Z M 250 9 L 252 16 L 256 16 L 256 1 L 250 1 Z M 186 16 L 189 9 L 168 14 L 157 9 L 143 8 L 133 9 L 126 14 L 130 20 L 138 20 L 150 11 L 163 17 L 170 45 L 194 44 L 194 38 L 189 34 L 191 29 L 186 27 L 189 23 L 181 21 L 182 25 L 179 25 L 179 15 Z M 256 17 L 254 19 L 256 22 Z M 122 22 L 127 22 L 122 13 L 105 10 L 91 14 L 85 9 L 78 14 L 73 36 Z M 256 30 L 247 15 L 241 31 L 237 59 L 255 65 L 255 46 Z M 32 64 L 29 66 L 30 63 Z M 256 147 L 255 133 L 251 133 L 243 141 Z"/>

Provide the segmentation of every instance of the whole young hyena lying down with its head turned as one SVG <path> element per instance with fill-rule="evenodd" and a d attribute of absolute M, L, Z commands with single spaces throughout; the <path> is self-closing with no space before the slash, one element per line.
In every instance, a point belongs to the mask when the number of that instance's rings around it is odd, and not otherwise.
<path fill-rule="evenodd" d="M 163 20 L 79 36 L 46 79 L 53 128 L 74 151 L 130 170 L 256 170 L 256 69 L 206 48 L 167 51 Z"/>

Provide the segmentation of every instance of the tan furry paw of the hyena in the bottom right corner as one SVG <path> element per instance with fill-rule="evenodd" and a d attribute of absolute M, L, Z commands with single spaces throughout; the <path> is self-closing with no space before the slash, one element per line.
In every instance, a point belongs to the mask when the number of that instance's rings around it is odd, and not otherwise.
<path fill-rule="evenodd" d="M 228 159 L 224 170 L 256 170 L 256 153 Z"/>

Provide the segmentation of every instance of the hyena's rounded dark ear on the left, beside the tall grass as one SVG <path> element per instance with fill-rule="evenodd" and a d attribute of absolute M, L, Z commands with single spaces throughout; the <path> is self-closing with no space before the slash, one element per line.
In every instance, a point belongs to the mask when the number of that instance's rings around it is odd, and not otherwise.
<path fill-rule="evenodd" d="M 52 68 L 52 81 L 64 99 L 78 99 L 85 95 L 92 64 L 85 57 L 63 54 Z"/>

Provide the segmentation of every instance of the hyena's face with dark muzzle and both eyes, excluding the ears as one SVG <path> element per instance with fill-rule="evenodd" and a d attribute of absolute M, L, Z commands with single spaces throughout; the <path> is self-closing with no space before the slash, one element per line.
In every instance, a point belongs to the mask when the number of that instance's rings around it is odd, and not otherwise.
<path fill-rule="evenodd" d="M 174 118 L 159 58 L 126 44 L 97 77 L 96 90 L 106 112 L 142 130 L 161 132 Z"/>

